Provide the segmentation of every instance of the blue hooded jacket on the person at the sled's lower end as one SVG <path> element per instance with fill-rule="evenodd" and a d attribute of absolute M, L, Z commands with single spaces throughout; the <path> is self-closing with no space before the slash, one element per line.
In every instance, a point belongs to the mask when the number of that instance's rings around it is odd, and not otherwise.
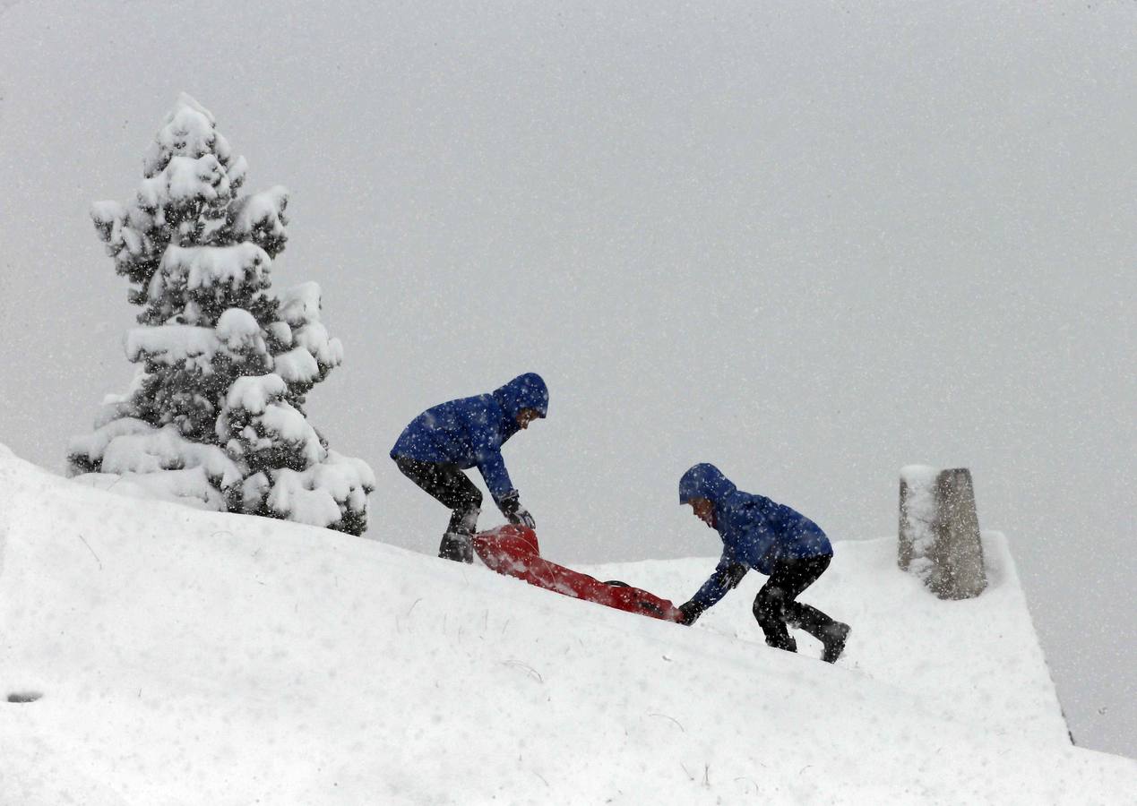
<path fill-rule="evenodd" d="M 738 584 L 728 568 L 741 565 L 769 574 L 780 559 L 831 555 L 833 547 L 821 526 L 794 509 L 742 492 L 714 465 L 699 464 L 679 480 L 679 502 L 706 498 L 714 505 L 714 527 L 722 538 L 722 559 L 692 601 L 704 608 L 717 603 Z"/>

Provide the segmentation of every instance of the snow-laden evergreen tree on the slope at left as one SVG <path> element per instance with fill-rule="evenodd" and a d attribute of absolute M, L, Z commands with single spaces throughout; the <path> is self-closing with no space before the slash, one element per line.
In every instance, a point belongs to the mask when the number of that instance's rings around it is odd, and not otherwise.
<path fill-rule="evenodd" d="M 94 432 L 70 441 L 69 472 L 360 534 L 374 474 L 329 450 L 304 410 L 343 348 L 319 322 L 316 283 L 269 290 L 288 191 L 239 194 L 246 167 L 183 93 L 146 153 L 135 199 L 93 205 L 99 238 L 142 308 L 126 336 L 139 368 L 125 394 L 107 397 Z"/>

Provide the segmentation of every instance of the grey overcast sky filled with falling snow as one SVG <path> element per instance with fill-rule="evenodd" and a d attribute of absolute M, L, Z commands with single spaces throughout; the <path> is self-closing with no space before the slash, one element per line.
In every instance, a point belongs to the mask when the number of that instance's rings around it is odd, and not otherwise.
<path fill-rule="evenodd" d="M 0 441 L 63 471 L 125 389 L 88 207 L 184 90 L 292 191 L 368 537 L 435 550 L 387 451 L 530 369 L 506 457 L 563 562 L 714 555 L 698 460 L 837 539 L 968 466 L 1076 739 L 1137 756 L 1135 43 L 1121 1 L 0 2 Z"/>

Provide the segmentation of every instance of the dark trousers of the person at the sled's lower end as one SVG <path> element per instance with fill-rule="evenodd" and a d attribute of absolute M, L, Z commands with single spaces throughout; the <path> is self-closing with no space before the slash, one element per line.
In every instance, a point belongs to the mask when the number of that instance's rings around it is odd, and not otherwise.
<path fill-rule="evenodd" d="M 824 573 L 832 558 L 831 554 L 825 554 L 805 559 L 783 559 L 774 565 L 770 579 L 754 598 L 754 617 L 766 634 L 769 646 L 797 651 L 797 641 L 789 634 L 787 624 L 823 640 L 822 631 L 833 620 L 796 599 Z"/>

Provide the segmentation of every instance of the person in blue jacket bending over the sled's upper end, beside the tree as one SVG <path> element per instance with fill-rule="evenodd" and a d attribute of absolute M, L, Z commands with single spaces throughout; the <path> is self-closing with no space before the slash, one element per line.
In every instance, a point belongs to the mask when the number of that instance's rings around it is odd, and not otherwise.
<path fill-rule="evenodd" d="M 525 373 L 490 394 L 439 404 L 407 425 L 391 448 L 395 464 L 415 484 L 450 508 L 438 556 L 472 563 L 482 493 L 462 471 L 476 467 L 501 514 L 533 527 L 501 458 L 501 446 L 549 410 L 549 390 Z"/>

